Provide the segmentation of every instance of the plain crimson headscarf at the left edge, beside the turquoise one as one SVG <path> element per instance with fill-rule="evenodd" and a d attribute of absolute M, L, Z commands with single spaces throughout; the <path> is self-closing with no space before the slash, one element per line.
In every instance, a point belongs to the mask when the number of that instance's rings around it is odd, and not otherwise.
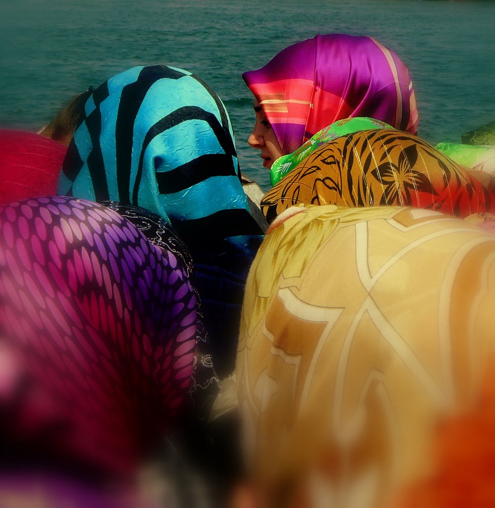
<path fill-rule="evenodd" d="M 0 205 L 57 194 L 65 152 L 39 134 L 0 130 Z"/>

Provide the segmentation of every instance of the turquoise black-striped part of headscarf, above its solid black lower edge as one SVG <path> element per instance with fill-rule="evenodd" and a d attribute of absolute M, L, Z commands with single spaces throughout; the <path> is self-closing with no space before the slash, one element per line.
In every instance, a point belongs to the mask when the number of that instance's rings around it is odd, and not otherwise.
<path fill-rule="evenodd" d="M 135 67 L 94 90 L 58 192 L 169 221 L 249 210 L 225 107 L 198 78 L 166 66 Z"/>

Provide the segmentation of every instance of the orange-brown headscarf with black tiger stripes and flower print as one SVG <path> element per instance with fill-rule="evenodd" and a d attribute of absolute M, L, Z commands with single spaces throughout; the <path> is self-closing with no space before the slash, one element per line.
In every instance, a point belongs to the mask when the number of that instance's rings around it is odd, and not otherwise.
<path fill-rule="evenodd" d="M 298 204 L 416 206 L 464 218 L 491 210 L 491 194 L 421 139 L 394 129 L 360 131 L 323 144 L 261 200 L 269 223 Z"/>

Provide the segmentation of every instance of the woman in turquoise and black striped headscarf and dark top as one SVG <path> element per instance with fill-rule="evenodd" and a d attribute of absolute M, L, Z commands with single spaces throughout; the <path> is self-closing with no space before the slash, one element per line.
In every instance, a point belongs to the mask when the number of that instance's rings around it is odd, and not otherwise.
<path fill-rule="evenodd" d="M 58 193 L 137 205 L 172 224 L 191 252 L 212 343 L 228 357 L 229 370 L 262 232 L 249 211 L 232 125 L 217 94 L 167 66 L 135 67 L 109 79 L 86 101 Z"/>

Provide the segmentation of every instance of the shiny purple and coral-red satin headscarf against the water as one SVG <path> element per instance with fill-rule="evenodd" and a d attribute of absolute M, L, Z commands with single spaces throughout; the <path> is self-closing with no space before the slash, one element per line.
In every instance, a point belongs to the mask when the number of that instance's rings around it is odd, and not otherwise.
<path fill-rule="evenodd" d="M 407 67 L 371 37 L 319 35 L 285 48 L 265 67 L 242 77 L 284 153 L 348 117 L 368 116 L 417 132 Z"/>

